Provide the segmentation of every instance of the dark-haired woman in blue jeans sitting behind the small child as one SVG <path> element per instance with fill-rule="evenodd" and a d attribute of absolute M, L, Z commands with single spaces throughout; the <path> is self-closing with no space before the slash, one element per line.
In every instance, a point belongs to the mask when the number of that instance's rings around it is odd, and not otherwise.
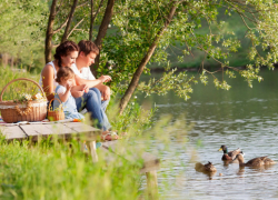
<path fill-rule="evenodd" d="M 78 57 L 79 48 L 72 41 L 62 42 L 57 49 L 54 54 L 54 60 L 47 63 L 41 71 L 40 84 L 48 100 L 54 98 L 54 89 L 58 86 L 56 82 L 57 71 L 62 67 L 71 67 L 76 63 Z M 100 82 L 106 82 L 110 79 L 108 76 L 101 76 L 98 80 Z M 89 90 L 86 84 L 76 86 L 71 88 L 71 93 L 76 98 L 76 103 L 78 110 L 87 108 L 91 114 L 92 120 L 97 120 L 97 127 L 102 132 L 102 139 L 112 140 L 118 139 L 117 134 L 111 134 L 108 129 L 111 127 L 105 111 L 101 108 L 101 94 L 98 89 Z"/>

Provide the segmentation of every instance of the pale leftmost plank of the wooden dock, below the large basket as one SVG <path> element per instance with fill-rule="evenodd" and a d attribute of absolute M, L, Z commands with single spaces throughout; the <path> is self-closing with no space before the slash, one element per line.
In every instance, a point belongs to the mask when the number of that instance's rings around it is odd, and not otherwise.
<path fill-rule="evenodd" d="M 27 139 L 27 134 L 18 126 L 0 126 L 0 131 L 6 137 L 6 140 Z"/>

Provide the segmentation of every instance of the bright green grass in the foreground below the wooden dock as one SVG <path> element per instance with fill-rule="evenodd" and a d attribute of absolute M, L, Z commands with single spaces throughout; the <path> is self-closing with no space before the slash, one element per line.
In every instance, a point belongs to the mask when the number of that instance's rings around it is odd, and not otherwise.
<path fill-rule="evenodd" d="M 139 167 L 120 158 L 92 164 L 77 141 L 71 148 L 47 141 L 30 146 L 1 140 L 0 144 L 1 199 L 137 199 L 140 194 Z"/>

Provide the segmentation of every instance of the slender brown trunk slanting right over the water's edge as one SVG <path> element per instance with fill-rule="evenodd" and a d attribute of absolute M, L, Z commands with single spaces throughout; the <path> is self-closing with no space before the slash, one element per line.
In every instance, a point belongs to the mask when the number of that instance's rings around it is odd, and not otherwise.
<path fill-rule="evenodd" d="M 146 64 L 148 63 L 148 61 L 150 60 L 150 58 L 152 57 L 153 54 L 153 51 L 156 50 L 157 48 L 157 44 L 160 40 L 160 38 L 162 37 L 165 30 L 167 29 L 167 27 L 169 26 L 175 12 L 176 12 L 176 9 L 177 9 L 177 6 L 178 6 L 178 2 L 175 2 L 173 6 L 171 7 L 170 9 L 170 12 L 167 17 L 167 21 L 165 22 L 165 26 L 161 28 L 161 30 L 157 33 L 153 42 L 151 43 L 151 46 L 149 47 L 149 50 L 148 52 L 146 53 L 146 56 L 143 57 L 143 59 L 141 60 L 139 67 L 137 68 L 133 77 L 132 77 L 132 80 L 131 82 L 129 83 L 129 87 L 128 89 L 126 90 L 123 97 L 121 98 L 121 101 L 120 101 L 120 104 L 119 104 L 119 113 L 121 114 L 123 112 L 123 110 L 126 109 L 132 93 L 135 92 L 137 86 L 138 86 L 138 82 L 139 82 L 139 79 L 140 79 L 140 76 L 143 71 L 143 68 L 146 67 Z"/>

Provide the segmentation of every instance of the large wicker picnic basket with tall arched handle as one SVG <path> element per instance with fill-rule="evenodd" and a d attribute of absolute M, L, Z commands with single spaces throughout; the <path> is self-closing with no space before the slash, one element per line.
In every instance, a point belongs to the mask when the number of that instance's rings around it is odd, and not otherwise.
<path fill-rule="evenodd" d="M 13 100 L 3 101 L 2 96 L 7 87 L 12 82 L 19 80 L 30 81 L 34 83 L 40 89 L 43 99 L 30 100 L 23 103 L 17 103 L 13 102 Z M 18 121 L 41 121 L 47 117 L 47 98 L 42 88 L 36 81 L 27 78 L 14 79 L 10 81 L 8 84 L 6 84 L 0 94 L 0 111 L 2 120 L 8 123 Z"/>

